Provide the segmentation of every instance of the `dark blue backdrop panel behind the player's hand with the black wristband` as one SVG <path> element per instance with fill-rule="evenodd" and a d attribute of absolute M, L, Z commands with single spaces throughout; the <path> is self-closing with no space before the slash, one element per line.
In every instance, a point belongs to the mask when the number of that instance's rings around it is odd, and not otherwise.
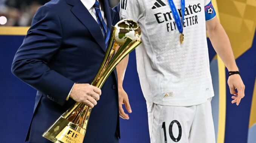
<path fill-rule="evenodd" d="M 227 86 L 226 126 L 224 143 L 247 143 L 251 101 L 256 78 L 256 36 L 252 47 L 236 59 L 237 66 L 245 84 L 245 98 L 241 104 L 231 104 L 230 90 Z M 226 78 L 228 71 L 226 70 Z M 256 92 L 256 91 L 254 91 Z M 256 97 L 254 97 L 256 98 Z M 256 143 L 256 141 L 255 141 Z"/>

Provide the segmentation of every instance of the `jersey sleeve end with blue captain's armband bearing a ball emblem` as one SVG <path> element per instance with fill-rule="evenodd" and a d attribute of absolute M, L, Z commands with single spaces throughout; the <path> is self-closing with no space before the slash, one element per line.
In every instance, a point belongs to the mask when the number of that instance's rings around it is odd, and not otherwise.
<path fill-rule="evenodd" d="M 205 12 L 206 21 L 212 20 L 214 17 L 216 17 L 216 12 L 213 8 L 213 4 L 211 3 L 211 0 L 205 0 L 204 12 Z"/>

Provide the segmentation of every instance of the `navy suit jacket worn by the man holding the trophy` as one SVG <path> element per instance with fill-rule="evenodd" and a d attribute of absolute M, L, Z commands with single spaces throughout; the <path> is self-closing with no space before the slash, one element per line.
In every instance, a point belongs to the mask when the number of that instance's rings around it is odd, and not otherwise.
<path fill-rule="evenodd" d="M 111 29 L 119 21 L 119 5 L 111 9 L 107 0 L 102 3 Z M 12 63 L 12 73 L 38 90 L 26 140 L 46 142 L 42 133 L 74 105 L 72 99 L 65 100 L 73 84 L 93 81 L 105 47 L 102 30 L 80 0 L 52 0 L 39 8 Z M 92 110 L 86 142 L 102 142 L 100 137 L 106 139 L 104 142 L 115 142 L 117 136 L 120 138 L 116 87 L 113 72 Z"/>

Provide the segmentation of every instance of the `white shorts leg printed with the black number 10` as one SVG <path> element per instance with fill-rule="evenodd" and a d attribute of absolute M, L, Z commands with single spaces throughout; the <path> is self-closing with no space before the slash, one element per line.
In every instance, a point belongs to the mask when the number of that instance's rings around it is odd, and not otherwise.
<path fill-rule="evenodd" d="M 151 143 L 188 143 L 195 109 L 155 104 Z"/>

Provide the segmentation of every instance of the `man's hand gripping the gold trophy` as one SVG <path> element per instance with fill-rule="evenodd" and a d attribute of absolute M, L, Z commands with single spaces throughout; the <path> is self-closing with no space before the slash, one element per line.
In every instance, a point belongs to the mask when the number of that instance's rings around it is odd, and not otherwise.
<path fill-rule="evenodd" d="M 100 99 L 101 90 L 90 84 L 75 84 L 69 97 L 93 108 Z"/>

